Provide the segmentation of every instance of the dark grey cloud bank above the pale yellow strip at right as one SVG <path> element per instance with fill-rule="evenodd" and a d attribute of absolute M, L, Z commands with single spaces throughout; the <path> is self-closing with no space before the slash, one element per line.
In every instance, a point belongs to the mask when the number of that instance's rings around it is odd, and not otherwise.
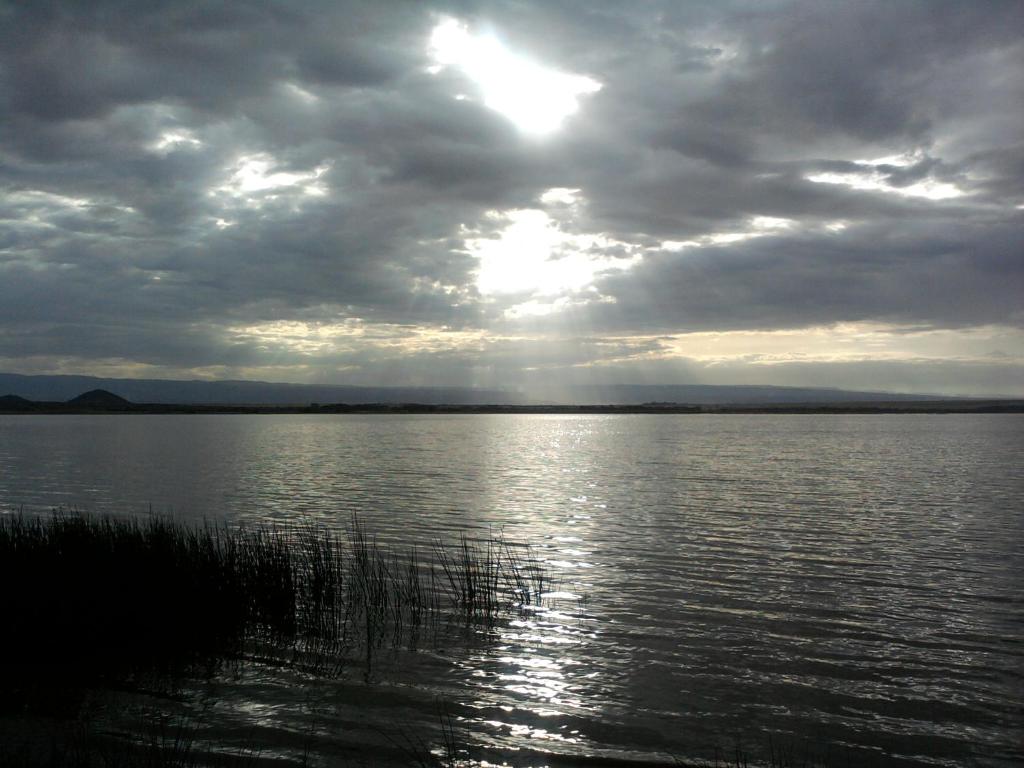
<path fill-rule="evenodd" d="M 660 253 L 599 288 L 588 323 L 649 331 L 752 330 L 881 321 L 956 328 L 1024 324 L 1024 228 L 861 225 Z"/>

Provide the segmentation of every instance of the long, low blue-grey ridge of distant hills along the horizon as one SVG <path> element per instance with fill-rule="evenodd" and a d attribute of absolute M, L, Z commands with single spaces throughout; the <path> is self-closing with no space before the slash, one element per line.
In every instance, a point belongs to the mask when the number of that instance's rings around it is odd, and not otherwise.
<path fill-rule="evenodd" d="M 778 404 L 820 402 L 899 402 L 953 399 L 938 395 L 860 392 L 844 389 L 705 384 L 568 386 L 527 396 L 521 392 L 472 387 L 356 387 L 280 384 L 261 381 L 175 381 L 171 379 L 100 379 L 90 376 L 24 376 L 0 374 L 0 392 L 30 400 L 69 401 L 83 391 L 105 390 L 122 407 L 131 403 L 219 406 L 308 406 L 309 403 L 423 404 Z M 117 394 L 114 394 L 117 392 Z M 111 409 L 109 397 L 82 408 Z M 96 395 L 99 397 L 99 395 Z M 106 403 L 105 406 L 103 403 Z M 16 409 L 3 409 L 11 411 Z"/>

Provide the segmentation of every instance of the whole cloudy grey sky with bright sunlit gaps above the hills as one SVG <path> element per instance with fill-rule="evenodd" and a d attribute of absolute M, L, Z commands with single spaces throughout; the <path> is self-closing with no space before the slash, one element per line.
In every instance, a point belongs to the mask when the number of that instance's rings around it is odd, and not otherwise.
<path fill-rule="evenodd" d="M 1024 2 L 0 0 L 0 371 L 1024 396 Z"/>

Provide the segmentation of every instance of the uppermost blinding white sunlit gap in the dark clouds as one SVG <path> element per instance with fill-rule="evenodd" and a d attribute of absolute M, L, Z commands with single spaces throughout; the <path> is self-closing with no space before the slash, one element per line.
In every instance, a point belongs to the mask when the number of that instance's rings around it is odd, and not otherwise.
<path fill-rule="evenodd" d="M 582 96 L 602 87 L 585 75 L 558 72 L 516 55 L 497 38 L 473 35 L 454 18 L 434 28 L 429 50 L 435 62 L 431 72 L 458 68 L 479 88 L 483 103 L 523 133 L 556 131 L 579 112 Z"/>

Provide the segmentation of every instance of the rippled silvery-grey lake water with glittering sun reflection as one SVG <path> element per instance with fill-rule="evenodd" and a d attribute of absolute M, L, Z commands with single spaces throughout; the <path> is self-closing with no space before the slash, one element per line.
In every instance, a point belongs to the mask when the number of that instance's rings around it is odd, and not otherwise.
<path fill-rule="evenodd" d="M 313 764 L 440 708 L 497 764 L 1019 765 L 1022 467 L 1012 415 L 0 416 L 0 512 L 534 545 L 561 597 L 478 642 L 222 683 L 212 736 Z"/>

